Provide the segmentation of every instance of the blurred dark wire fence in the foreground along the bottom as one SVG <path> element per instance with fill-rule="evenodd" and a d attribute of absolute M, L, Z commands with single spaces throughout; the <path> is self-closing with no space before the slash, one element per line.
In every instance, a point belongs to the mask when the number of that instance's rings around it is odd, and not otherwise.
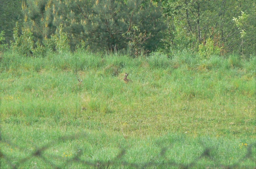
<path fill-rule="evenodd" d="M 161 152 L 154 158 L 152 158 L 151 160 L 149 160 L 149 162 L 144 162 L 144 163 L 132 163 L 132 162 L 127 162 L 125 160 L 123 160 L 123 156 L 126 154 L 127 149 L 126 148 L 120 148 L 119 153 L 111 160 L 109 161 L 91 161 L 91 160 L 83 160 L 81 159 L 81 156 L 83 155 L 83 151 L 81 149 L 78 149 L 76 151 L 76 153 L 73 155 L 72 158 L 63 160 L 62 159 L 62 164 L 56 164 L 55 162 L 53 162 L 50 159 L 60 159 L 59 156 L 55 156 L 55 155 L 49 155 L 46 154 L 45 151 L 47 149 L 50 148 L 50 146 L 57 144 L 58 141 L 67 141 L 67 140 L 74 140 L 74 139 L 79 139 L 81 137 L 86 137 L 86 134 L 83 135 L 69 135 L 69 136 L 64 136 L 64 137 L 59 137 L 58 139 L 55 139 L 54 141 L 50 141 L 49 143 L 45 144 L 44 146 L 41 146 L 39 148 L 37 148 L 36 150 L 33 151 L 33 153 L 27 154 L 26 157 L 20 159 L 20 160 L 16 160 L 14 162 L 14 159 L 8 155 L 6 155 L 4 152 L 2 152 L 2 149 L 0 149 L 0 160 L 2 162 L 0 162 L 0 168 L 2 168 L 1 164 L 3 163 L 3 160 L 8 164 L 9 168 L 21 168 L 22 164 L 25 164 L 26 162 L 28 162 L 28 160 L 30 160 L 31 158 L 40 158 L 43 162 L 45 162 L 45 164 L 50 165 L 52 168 L 66 168 L 66 166 L 68 164 L 72 164 L 72 163 L 79 163 L 82 164 L 85 168 L 114 168 L 116 166 L 119 166 L 119 168 L 152 168 L 152 167 L 156 167 L 156 168 L 183 168 L 183 169 L 187 169 L 187 168 L 197 168 L 200 164 L 198 163 L 200 159 L 202 158 L 207 158 L 209 160 L 212 160 L 213 165 L 212 166 L 208 166 L 207 168 L 240 168 L 241 164 L 244 163 L 247 160 L 250 160 L 251 162 L 254 162 L 255 156 L 256 156 L 256 152 L 252 151 L 252 148 L 256 147 L 256 142 L 254 144 L 249 144 L 247 146 L 247 153 L 242 156 L 235 164 L 220 164 L 218 162 L 216 162 L 212 157 L 211 157 L 211 152 L 213 150 L 216 150 L 214 148 L 209 148 L 209 147 L 205 147 L 203 153 L 201 153 L 201 155 L 199 155 L 198 157 L 195 157 L 194 160 L 192 162 L 190 162 L 189 164 L 183 164 L 180 162 L 175 162 L 172 160 L 167 160 L 166 157 L 166 151 L 171 148 L 171 147 L 164 147 L 161 149 Z M 9 144 L 11 146 L 15 146 L 18 147 L 17 145 L 15 145 L 14 143 L 7 141 L 6 139 L 3 139 L 1 136 L 1 132 L 0 132 L 0 142 L 2 143 L 6 143 Z M 18 147 L 19 148 L 19 147 Z M 19 150 L 25 152 L 26 150 L 24 148 L 19 148 Z M 47 157 L 46 157 L 47 156 Z M 164 160 L 161 160 L 163 159 Z M 254 162 L 255 164 L 255 162 Z M 246 167 L 245 167 L 246 168 Z M 256 169 L 256 166 L 254 166 L 254 169 Z"/>

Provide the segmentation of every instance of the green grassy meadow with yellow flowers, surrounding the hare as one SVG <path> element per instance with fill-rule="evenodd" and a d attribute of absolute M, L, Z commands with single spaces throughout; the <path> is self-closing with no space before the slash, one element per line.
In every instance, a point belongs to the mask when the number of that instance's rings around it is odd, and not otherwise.
<path fill-rule="evenodd" d="M 256 168 L 255 56 L 5 52 L 0 91 L 0 168 Z"/>

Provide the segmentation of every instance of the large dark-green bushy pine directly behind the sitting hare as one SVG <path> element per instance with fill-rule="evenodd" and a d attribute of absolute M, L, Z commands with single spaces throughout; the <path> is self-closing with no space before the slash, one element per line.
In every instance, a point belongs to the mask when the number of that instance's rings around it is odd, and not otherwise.
<path fill-rule="evenodd" d="M 161 8 L 145 0 L 59 0 L 56 6 L 56 23 L 65 25 L 73 47 L 83 40 L 92 51 L 119 51 L 137 43 L 149 52 L 165 28 Z"/>

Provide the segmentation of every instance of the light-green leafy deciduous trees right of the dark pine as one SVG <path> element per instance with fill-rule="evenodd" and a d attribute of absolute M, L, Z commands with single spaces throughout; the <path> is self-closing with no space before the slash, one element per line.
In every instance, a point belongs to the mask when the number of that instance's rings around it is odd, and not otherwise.
<path fill-rule="evenodd" d="M 164 16 L 168 23 L 165 47 L 171 49 L 198 50 L 200 44 L 221 48 L 220 54 L 242 52 L 239 30 L 232 21 L 241 11 L 248 14 L 244 30 L 249 34 L 243 37 L 243 52 L 255 53 L 255 1 L 254 0 L 162 0 Z M 169 38 L 168 38 L 169 37 Z M 210 42 L 211 40 L 208 40 Z"/>

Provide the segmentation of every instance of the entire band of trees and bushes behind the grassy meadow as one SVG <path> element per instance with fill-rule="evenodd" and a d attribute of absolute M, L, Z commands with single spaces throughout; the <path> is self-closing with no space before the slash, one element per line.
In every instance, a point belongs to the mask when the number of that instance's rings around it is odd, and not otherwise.
<path fill-rule="evenodd" d="M 208 58 L 225 53 L 246 57 L 256 51 L 254 0 L 0 2 L 3 4 L 0 31 L 4 31 L 1 44 L 13 39 L 12 46 L 20 46 L 23 54 L 80 48 L 96 52 L 128 51 L 138 56 L 156 49 L 167 52 L 188 49 Z M 19 29 L 13 32 L 17 21 Z"/>

